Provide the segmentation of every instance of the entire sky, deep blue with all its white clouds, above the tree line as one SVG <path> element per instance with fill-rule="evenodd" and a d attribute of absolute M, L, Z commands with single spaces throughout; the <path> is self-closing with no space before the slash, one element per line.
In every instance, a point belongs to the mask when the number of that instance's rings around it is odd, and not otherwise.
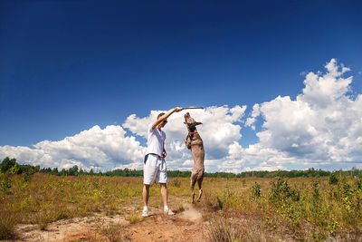
<path fill-rule="evenodd" d="M 142 169 L 192 110 L 206 172 L 362 169 L 356 1 L 0 3 L 0 160 Z M 191 170 L 185 111 L 167 169 Z"/>

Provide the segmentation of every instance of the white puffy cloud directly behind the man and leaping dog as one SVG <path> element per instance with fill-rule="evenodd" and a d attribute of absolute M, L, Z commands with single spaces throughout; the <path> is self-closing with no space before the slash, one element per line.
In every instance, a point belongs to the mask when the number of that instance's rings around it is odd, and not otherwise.
<path fill-rule="evenodd" d="M 229 146 L 242 138 L 242 119 L 246 106 L 235 105 L 207 107 L 204 110 L 190 111 L 195 121 L 203 122 L 197 126 L 205 143 L 205 165 L 209 170 L 217 170 L 218 164 L 228 155 Z M 122 124 L 136 135 L 147 138 L 148 123 L 156 121 L 157 114 L 166 111 L 151 111 L 148 117 L 138 118 L 135 114 Z M 187 130 L 184 125 L 186 111 L 172 114 L 165 126 L 167 140 L 167 163 L 170 169 L 192 169 L 193 161 L 190 150 L 187 150 L 184 138 Z"/>

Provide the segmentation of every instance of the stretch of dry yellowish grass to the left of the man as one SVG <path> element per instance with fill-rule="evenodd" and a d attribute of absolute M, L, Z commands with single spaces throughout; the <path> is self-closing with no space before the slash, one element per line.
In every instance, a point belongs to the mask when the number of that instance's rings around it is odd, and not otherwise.
<path fill-rule="evenodd" d="M 0 194 L 0 212 L 8 215 L 0 217 L 0 238 L 14 237 L 18 223 L 38 224 L 46 229 L 52 221 L 63 218 L 86 217 L 100 211 L 119 213 L 131 198 L 140 200 L 142 188 L 142 181 L 134 178 L 56 177 L 40 173 L 29 181 L 24 181 L 22 175 L 13 175 L 10 183 L 11 188 Z"/>

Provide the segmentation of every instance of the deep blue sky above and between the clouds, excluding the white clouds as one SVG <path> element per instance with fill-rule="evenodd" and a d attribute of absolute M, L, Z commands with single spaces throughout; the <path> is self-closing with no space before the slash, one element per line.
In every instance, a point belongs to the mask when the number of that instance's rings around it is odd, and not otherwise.
<path fill-rule="evenodd" d="M 355 101 L 362 93 L 361 11 L 358 1 L 2 1 L 0 155 L 64 166 L 68 161 L 32 160 L 19 149 L 74 137 L 96 125 L 101 131 L 115 125 L 144 148 L 144 137 L 124 125 L 129 116 L 150 119 L 151 111 L 176 106 L 209 111 L 245 106 L 240 120 L 233 121 L 241 127 L 233 141 L 243 148 L 262 143 L 257 133 L 271 129 L 263 126 L 267 113 L 254 130 L 244 125 L 253 105 L 278 96 L 296 101 L 307 73 L 325 73 L 332 58 L 350 69 L 346 78 L 353 76 L 344 94 Z M 358 122 L 359 116 L 351 119 Z M 347 167 L 358 167 L 359 156 L 348 154 L 342 160 L 356 163 Z M 310 153 L 300 156 L 304 161 L 271 167 L 345 167 L 340 161 L 310 164 Z M 206 162 L 210 170 L 263 167 L 244 161 L 227 169 L 213 165 L 216 158 Z M 226 158 L 225 151 L 223 162 Z M 129 165 L 122 155 L 105 159 L 104 169 Z M 71 155 L 66 160 L 91 165 Z M 175 163 L 173 168 L 188 167 Z"/>

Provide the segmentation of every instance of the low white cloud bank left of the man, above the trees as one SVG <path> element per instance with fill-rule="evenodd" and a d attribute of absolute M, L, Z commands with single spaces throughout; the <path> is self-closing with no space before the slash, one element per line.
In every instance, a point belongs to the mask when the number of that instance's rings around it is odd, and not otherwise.
<path fill-rule="evenodd" d="M 60 141 L 43 140 L 32 148 L 0 147 L 0 157 L 14 157 L 42 167 L 70 168 L 78 165 L 83 169 L 100 167 L 111 169 L 120 164 L 139 164 L 141 168 L 145 148 L 135 137 L 127 137 L 120 126 L 110 125 L 104 129 L 94 126 Z"/>

